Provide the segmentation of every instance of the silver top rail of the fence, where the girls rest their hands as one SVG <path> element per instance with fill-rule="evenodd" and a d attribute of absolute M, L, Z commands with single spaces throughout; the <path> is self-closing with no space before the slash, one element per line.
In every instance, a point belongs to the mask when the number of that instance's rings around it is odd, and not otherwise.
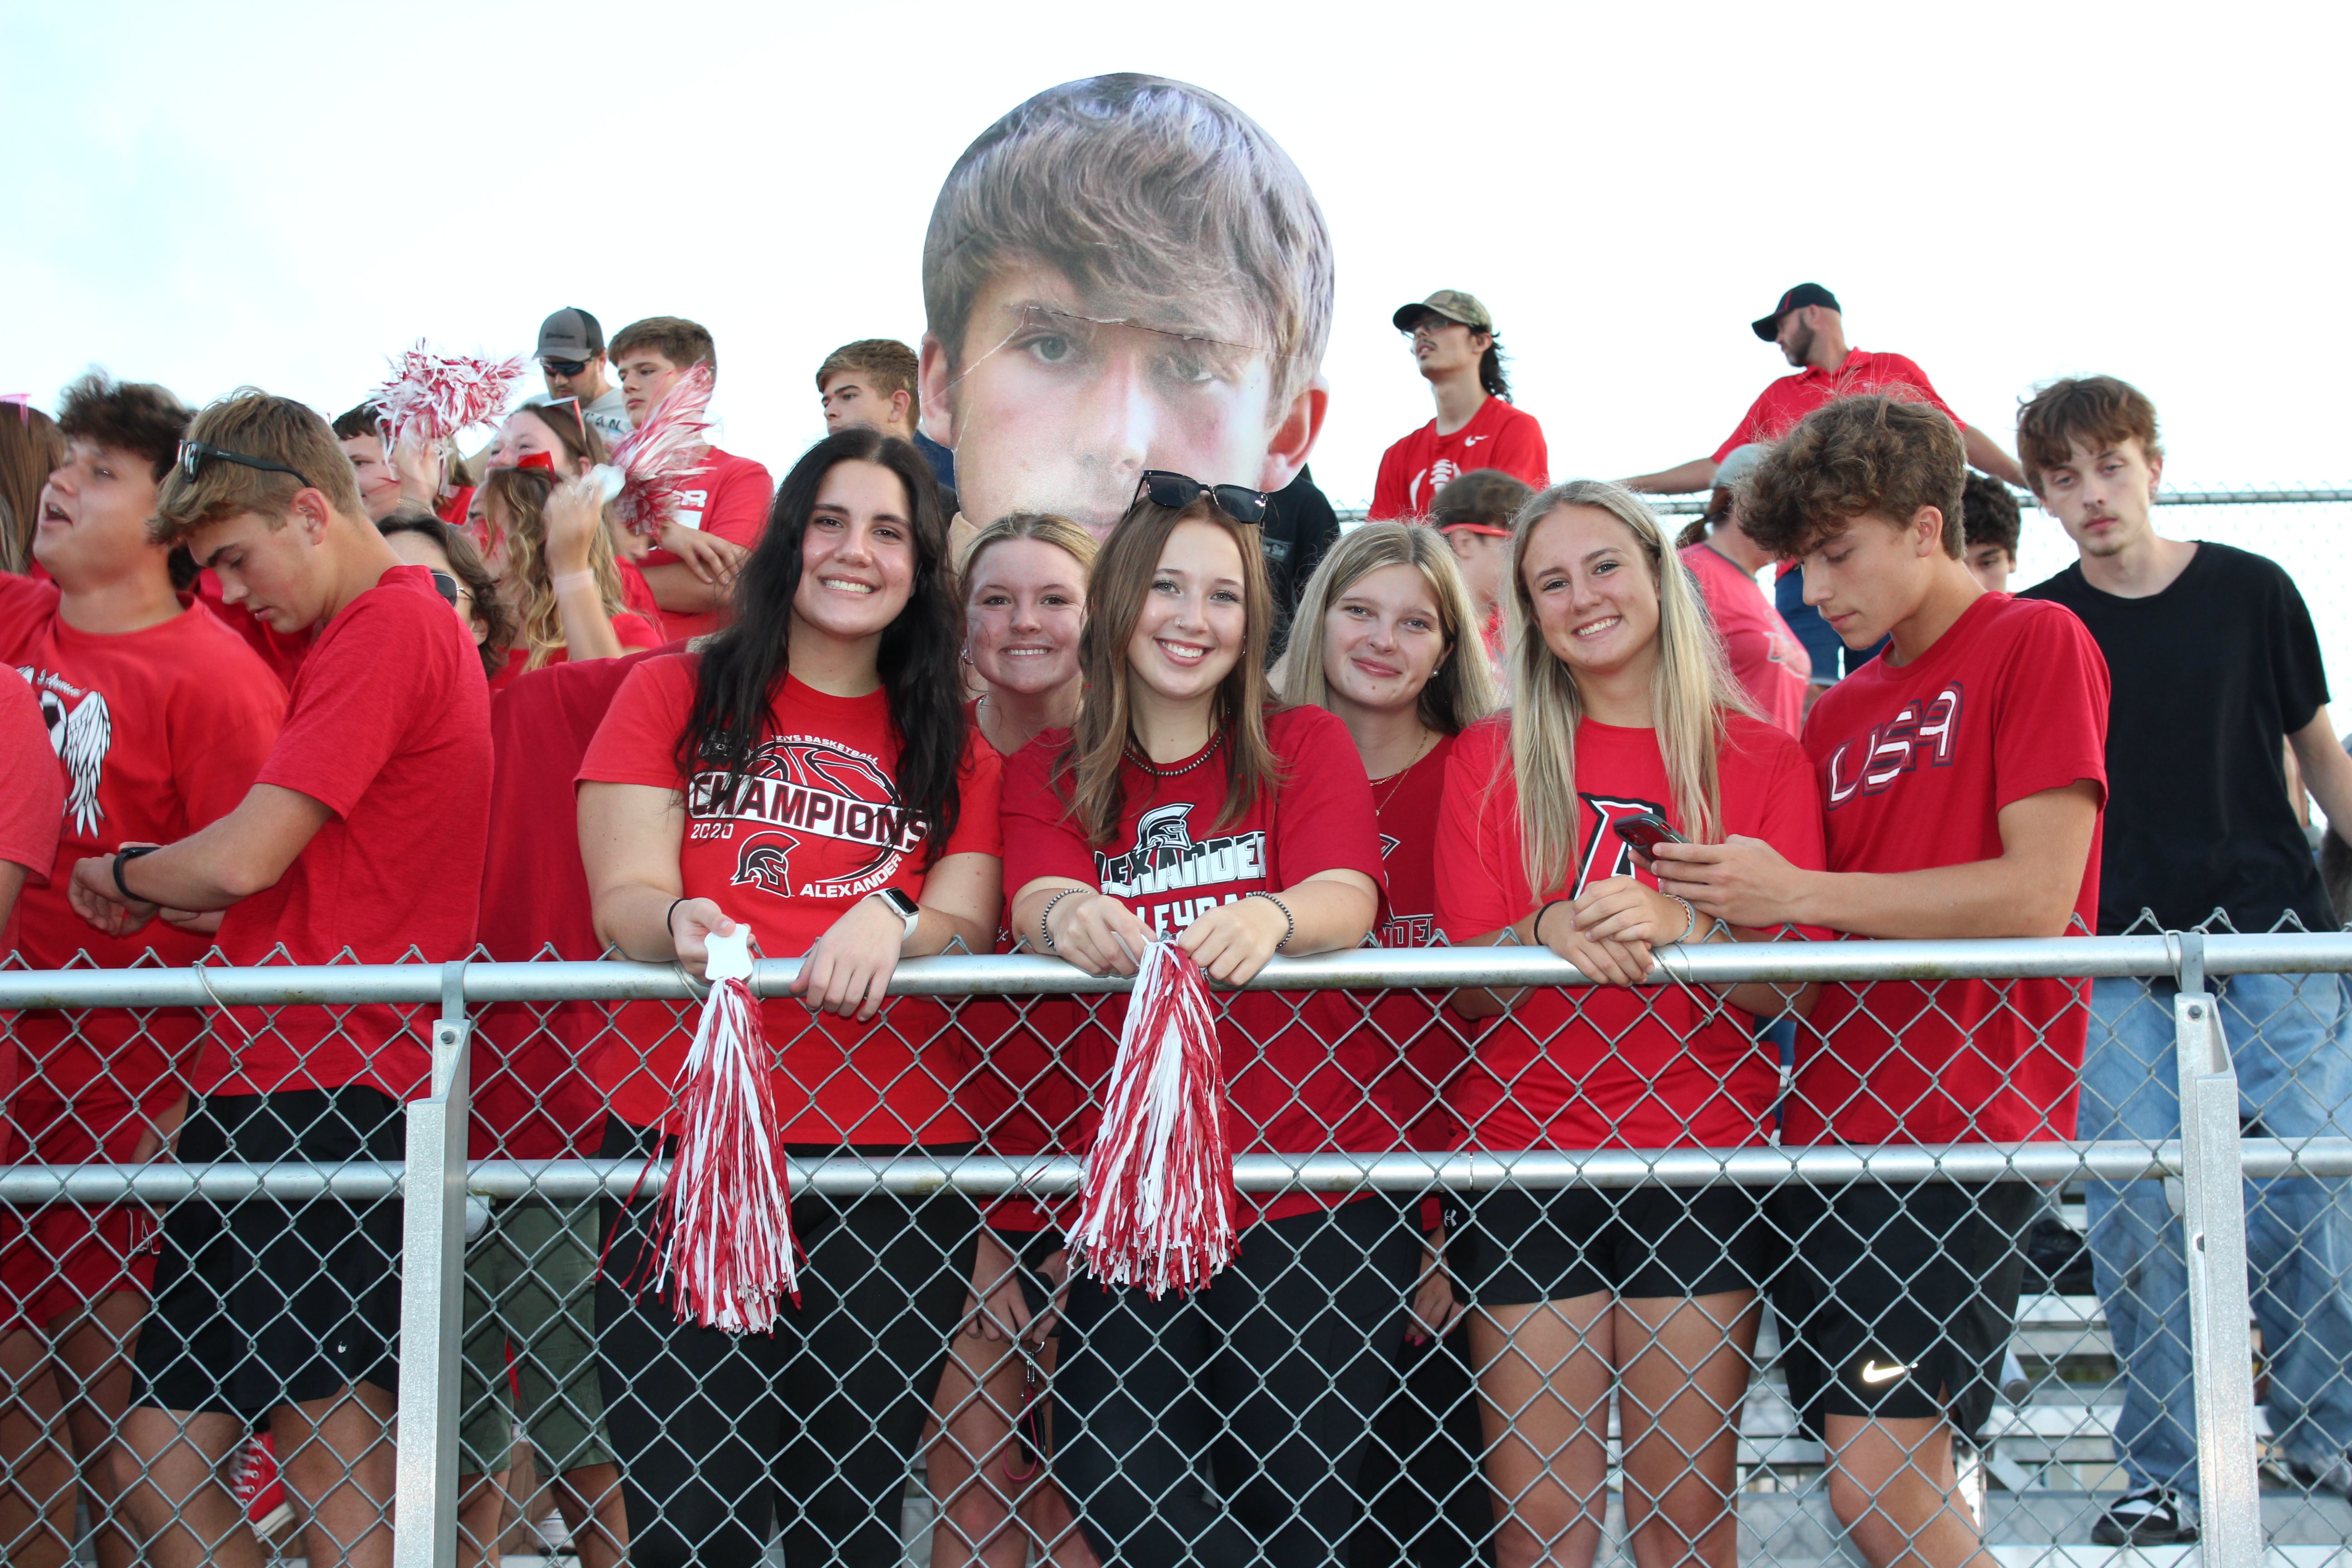
<path fill-rule="evenodd" d="M 2352 931 L 2204 936 L 2204 973 L 2352 971 Z M 2180 936 L 2058 936 L 1950 943 L 1712 943 L 1663 947 L 1649 985 L 1769 980 L 2027 980 L 2178 976 Z M 0 1009 L 148 1006 L 353 1006 L 437 1004 L 445 964 L 322 964 L 249 969 L 54 969 L 0 971 Z M 781 997 L 800 959 L 762 959 L 753 990 Z M 1566 959 L 1531 947 L 1350 947 L 1275 959 L 1244 990 L 1390 990 L 1456 985 L 1590 985 Z M 891 976 L 898 997 L 1047 997 L 1124 992 L 1129 980 L 1089 976 L 1061 959 L 981 954 L 908 959 Z M 468 1004 L 494 1001 L 680 1001 L 699 987 L 675 964 L 539 961 L 466 964 Z"/>

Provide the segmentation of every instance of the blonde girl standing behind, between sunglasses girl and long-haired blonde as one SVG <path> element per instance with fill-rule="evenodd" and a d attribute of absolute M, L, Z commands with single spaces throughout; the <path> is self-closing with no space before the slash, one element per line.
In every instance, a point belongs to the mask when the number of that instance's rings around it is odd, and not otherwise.
<path fill-rule="evenodd" d="M 1383 947 L 1425 947 L 1437 933 L 1446 762 L 1456 736 L 1498 705 L 1482 621 L 1437 529 L 1367 522 L 1331 545 L 1308 578 L 1289 654 L 1275 672 L 1284 698 L 1336 715 L 1364 759 L 1388 870 Z M 1367 1001 L 1376 1037 L 1399 1056 L 1378 1086 L 1390 1147 L 1451 1150 L 1456 1126 L 1442 1095 L 1470 1030 L 1439 1011 L 1444 992 L 1392 990 Z M 1442 1265 L 1442 1201 L 1423 1199 L 1418 1218 L 1428 1241 L 1397 1368 L 1402 1387 L 1371 1422 L 1362 1530 L 1425 1547 L 1435 1544 L 1430 1530 L 1446 1530 L 1470 1561 L 1494 1528 L 1472 1458 L 1484 1441 L 1468 1335 Z"/>

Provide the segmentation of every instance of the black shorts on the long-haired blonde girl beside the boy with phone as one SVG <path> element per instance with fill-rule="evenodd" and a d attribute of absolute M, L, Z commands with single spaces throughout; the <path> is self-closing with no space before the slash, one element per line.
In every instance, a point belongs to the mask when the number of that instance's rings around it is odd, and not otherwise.
<path fill-rule="evenodd" d="M 1446 1262 L 1479 1307 L 1717 1295 L 1764 1284 L 1769 1234 L 1748 1187 L 1510 1187 L 1477 1197 Z"/>

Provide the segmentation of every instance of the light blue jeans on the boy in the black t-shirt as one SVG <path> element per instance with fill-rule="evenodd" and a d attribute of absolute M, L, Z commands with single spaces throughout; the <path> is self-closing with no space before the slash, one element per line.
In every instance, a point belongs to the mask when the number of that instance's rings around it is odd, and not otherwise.
<path fill-rule="evenodd" d="M 2340 976 L 2225 976 L 2223 1034 L 2241 1114 L 2274 1138 L 2343 1135 L 2352 1093 L 2352 1013 Z M 2171 980 L 2093 980 L 2082 1070 L 2082 1138 L 2180 1135 Z M 2089 1182 L 2091 1276 L 2124 1373 L 2114 1446 L 2131 1488 L 2197 1493 L 2197 1403 L 2178 1187 Z M 2291 1460 L 2324 1465 L 2352 1446 L 2352 1208 L 2345 1180 L 2246 1182 L 2246 1272 L 2270 1366 L 2270 1429 Z"/>

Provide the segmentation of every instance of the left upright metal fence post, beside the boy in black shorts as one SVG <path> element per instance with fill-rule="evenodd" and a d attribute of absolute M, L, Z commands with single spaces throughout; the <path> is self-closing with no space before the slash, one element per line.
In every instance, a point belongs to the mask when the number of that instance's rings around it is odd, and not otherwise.
<path fill-rule="evenodd" d="M 466 964 L 442 964 L 433 1098 L 409 1103 L 400 1220 L 395 1568 L 456 1563 L 459 1340 L 466 1319 Z"/>

